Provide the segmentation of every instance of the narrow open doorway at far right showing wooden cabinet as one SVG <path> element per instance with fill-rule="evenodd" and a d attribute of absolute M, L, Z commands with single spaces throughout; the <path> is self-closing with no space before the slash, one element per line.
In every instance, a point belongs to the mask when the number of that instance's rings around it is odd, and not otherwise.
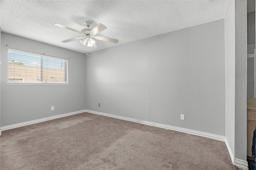
<path fill-rule="evenodd" d="M 255 169 L 255 97 L 256 97 L 256 57 L 255 57 L 255 0 L 247 1 L 247 161 L 250 169 Z"/>

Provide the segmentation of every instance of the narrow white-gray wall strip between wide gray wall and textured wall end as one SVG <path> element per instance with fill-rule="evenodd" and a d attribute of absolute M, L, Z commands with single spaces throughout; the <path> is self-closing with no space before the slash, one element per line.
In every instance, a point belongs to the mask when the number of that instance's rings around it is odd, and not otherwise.
<path fill-rule="evenodd" d="M 235 2 L 231 1 L 225 17 L 225 137 L 235 153 Z"/>

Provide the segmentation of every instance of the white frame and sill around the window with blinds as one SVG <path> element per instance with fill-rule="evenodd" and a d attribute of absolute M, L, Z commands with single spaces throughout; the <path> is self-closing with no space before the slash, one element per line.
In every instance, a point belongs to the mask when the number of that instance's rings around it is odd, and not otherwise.
<path fill-rule="evenodd" d="M 50 59 L 57 59 L 57 60 L 63 60 L 66 61 L 66 82 L 12 82 L 9 81 L 9 51 L 12 52 L 16 52 L 16 53 L 23 53 L 23 54 L 27 54 L 27 55 L 34 55 L 34 56 L 38 56 L 38 57 L 43 57 L 43 58 L 50 58 Z M 17 50 L 17 49 L 11 49 L 8 48 L 8 60 L 7 60 L 7 82 L 6 85 L 69 85 L 68 82 L 68 59 L 63 59 L 60 57 L 53 57 L 53 56 L 49 56 L 49 55 L 42 55 L 42 54 L 38 54 L 38 53 L 32 53 L 32 52 L 28 52 L 28 51 L 22 51 L 22 50 Z"/>

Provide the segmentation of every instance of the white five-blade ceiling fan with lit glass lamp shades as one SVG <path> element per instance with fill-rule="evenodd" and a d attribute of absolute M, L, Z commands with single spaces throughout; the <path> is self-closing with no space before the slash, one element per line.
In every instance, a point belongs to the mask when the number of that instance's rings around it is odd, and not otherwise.
<path fill-rule="evenodd" d="M 98 34 L 99 32 L 101 32 L 101 31 L 103 31 L 104 29 L 107 28 L 105 25 L 99 23 L 93 29 L 89 29 L 89 27 L 90 27 L 90 25 L 92 23 L 89 22 L 89 21 L 86 21 L 85 24 L 86 24 L 87 28 L 82 29 L 81 31 L 78 31 L 76 29 L 73 29 L 73 28 L 70 28 L 70 27 L 66 27 L 66 26 L 58 24 L 58 23 L 54 23 L 54 25 L 56 25 L 58 27 L 66 28 L 66 29 L 69 29 L 71 31 L 74 31 L 74 32 L 82 34 L 81 37 L 67 39 L 67 40 L 61 41 L 62 43 L 67 43 L 67 42 L 74 41 L 74 40 L 77 40 L 77 39 L 82 39 L 82 40 L 80 40 L 80 42 L 83 45 L 87 44 L 88 47 L 97 47 L 96 44 L 95 44 L 94 39 L 92 39 L 92 38 L 95 38 L 95 39 L 98 39 L 98 40 L 102 40 L 102 41 L 108 41 L 108 42 L 111 42 L 111 43 L 118 43 L 117 39 L 96 36 L 96 34 Z"/>

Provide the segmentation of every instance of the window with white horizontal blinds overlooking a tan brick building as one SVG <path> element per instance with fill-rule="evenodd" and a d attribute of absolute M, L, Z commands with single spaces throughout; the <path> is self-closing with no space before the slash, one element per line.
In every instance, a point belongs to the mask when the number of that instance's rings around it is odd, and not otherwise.
<path fill-rule="evenodd" d="M 8 49 L 8 82 L 68 83 L 68 60 Z"/>

